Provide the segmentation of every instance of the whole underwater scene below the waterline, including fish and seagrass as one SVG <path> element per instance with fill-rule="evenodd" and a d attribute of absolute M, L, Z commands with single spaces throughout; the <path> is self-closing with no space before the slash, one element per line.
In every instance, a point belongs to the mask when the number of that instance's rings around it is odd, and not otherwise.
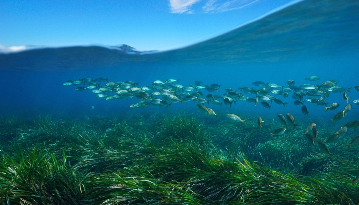
<path fill-rule="evenodd" d="M 174 50 L 0 53 L 0 204 L 359 204 L 358 33 L 359 1 L 304 0 Z"/>

